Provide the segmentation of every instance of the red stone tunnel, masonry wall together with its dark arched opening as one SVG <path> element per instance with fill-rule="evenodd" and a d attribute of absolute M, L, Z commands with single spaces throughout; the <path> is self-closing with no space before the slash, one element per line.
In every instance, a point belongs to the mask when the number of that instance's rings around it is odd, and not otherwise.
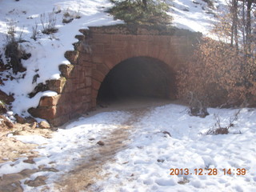
<path fill-rule="evenodd" d="M 30 114 L 60 126 L 97 100 L 126 96 L 176 97 L 176 72 L 193 54 L 201 34 L 162 26 L 101 26 L 80 30 L 62 78 L 47 82 L 58 95 L 41 98 Z"/>

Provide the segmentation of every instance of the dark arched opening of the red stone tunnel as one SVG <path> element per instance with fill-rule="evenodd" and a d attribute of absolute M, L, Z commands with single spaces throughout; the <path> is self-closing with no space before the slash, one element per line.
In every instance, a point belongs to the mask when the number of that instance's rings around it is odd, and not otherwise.
<path fill-rule="evenodd" d="M 114 66 L 98 90 L 97 102 L 120 98 L 175 98 L 174 72 L 155 58 L 128 58 Z"/>

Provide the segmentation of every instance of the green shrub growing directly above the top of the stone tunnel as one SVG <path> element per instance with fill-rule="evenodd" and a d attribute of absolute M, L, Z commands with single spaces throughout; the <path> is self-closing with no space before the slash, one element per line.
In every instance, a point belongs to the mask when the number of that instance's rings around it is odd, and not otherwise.
<path fill-rule="evenodd" d="M 143 2 L 133 0 L 114 2 L 114 6 L 107 12 L 113 14 L 115 19 L 121 19 L 128 24 L 170 24 L 171 17 L 166 14 L 166 11 L 169 10 L 166 2 L 160 0 Z"/>

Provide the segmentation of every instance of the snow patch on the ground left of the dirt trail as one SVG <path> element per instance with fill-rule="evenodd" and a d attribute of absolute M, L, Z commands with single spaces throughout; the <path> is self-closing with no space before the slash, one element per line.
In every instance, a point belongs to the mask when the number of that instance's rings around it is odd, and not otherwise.
<path fill-rule="evenodd" d="M 107 137 L 110 131 L 117 129 L 129 116 L 129 113 L 114 111 L 97 114 L 90 118 L 79 118 L 78 121 L 66 126 L 65 130 L 59 129 L 53 138 L 43 138 L 38 135 L 9 135 L 10 137 L 18 138 L 22 142 L 40 145 L 37 149 L 40 157 L 34 158 L 35 164 L 24 163 L 23 161 L 27 158 L 20 158 L 16 162 L 2 163 L 0 164 L 0 177 L 3 174 L 18 173 L 24 169 L 38 169 L 38 166 L 45 165 L 60 171 L 58 173 L 39 172 L 32 174 L 31 178 L 38 174 L 46 175 L 48 177 L 47 184 L 50 186 L 53 184 L 54 179 L 71 170 L 78 161 L 90 156 L 91 148 L 96 148 L 96 143 L 101 138 Z M 94 141 L 90 141 L 90 138 L 94 138 Z M 25 191 L 33 191 L 26 185 L 23 185 L 23 189 Z M 34 191 L 38 191 L 38 189 Z"/>

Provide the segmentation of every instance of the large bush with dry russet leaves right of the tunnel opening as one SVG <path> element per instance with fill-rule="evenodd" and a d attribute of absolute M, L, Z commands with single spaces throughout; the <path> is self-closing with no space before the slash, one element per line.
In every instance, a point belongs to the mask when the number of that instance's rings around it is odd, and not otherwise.
<path fill-rule="evenodd" d="M 210 106 L 239 105 L 255 97 L 255 61 L 224 42 L 203 38 L 178 72 L 178 97 L 193 92 Z"/>

